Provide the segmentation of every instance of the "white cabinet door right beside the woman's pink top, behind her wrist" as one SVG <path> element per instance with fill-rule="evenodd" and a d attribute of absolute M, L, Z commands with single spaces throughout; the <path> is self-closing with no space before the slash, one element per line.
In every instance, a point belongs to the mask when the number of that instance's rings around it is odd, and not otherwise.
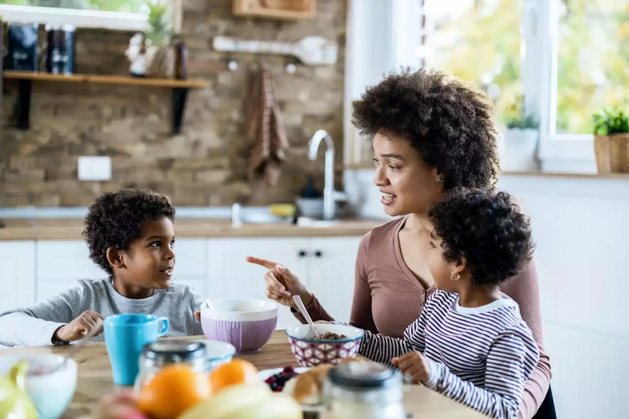
<path fill-rule="evenodd" d="M 361 238 L 310 239 L 308 289 L 338 321 L 350 320 L 356 255 Z"/>

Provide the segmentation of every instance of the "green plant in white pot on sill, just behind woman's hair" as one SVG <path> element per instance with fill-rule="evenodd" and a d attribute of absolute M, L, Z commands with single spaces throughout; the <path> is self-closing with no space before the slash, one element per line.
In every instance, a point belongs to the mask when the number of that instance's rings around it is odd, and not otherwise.
<path fill-rule="evenodd" d="M 503 135 L 504 150 L 500 159 L 500 167 L 503 170 L 539 169 L 537 159 L 539 123 L 535 116 L 525 113 L 521 102 L 511 106 L 513 116 L 506 123 Z"/>

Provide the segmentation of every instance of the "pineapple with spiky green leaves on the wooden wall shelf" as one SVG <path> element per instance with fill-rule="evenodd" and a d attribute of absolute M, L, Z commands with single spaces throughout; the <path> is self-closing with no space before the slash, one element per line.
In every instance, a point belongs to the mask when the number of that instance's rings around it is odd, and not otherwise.
<path fill-rule="evenodd" d="M 146 36 L 145 75 L 160 79 L 172 78 L 175 53 L 170 46 L 172 30 L 169 24 L 168 1 L 147 1 L 148 30 Z"/>

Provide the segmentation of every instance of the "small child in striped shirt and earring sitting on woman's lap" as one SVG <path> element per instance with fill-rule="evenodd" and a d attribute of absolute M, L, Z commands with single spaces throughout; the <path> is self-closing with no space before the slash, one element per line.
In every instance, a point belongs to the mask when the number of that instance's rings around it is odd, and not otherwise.
<path fill-rule="evenodd" d="M 365 331 L 360 354 L 493 418 L 516 418 L 539 359 L 503 283 L 530 259 L 528 219 L 506 193 L 459 190 L 435 204 L 435 291 L 403 339 Z"/>

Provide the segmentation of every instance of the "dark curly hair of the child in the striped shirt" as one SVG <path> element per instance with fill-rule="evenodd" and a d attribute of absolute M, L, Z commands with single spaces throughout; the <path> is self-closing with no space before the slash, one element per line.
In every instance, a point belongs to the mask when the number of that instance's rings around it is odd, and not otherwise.
<path fill-rule="evenodd" d="M 497 285 L 515 276 L 532 257 L 528 217 L 511 196 L 481 189 L 454 189 L 433 204 L 429 216 L 448 262 L 465 258 L 476 285 Z"/>

